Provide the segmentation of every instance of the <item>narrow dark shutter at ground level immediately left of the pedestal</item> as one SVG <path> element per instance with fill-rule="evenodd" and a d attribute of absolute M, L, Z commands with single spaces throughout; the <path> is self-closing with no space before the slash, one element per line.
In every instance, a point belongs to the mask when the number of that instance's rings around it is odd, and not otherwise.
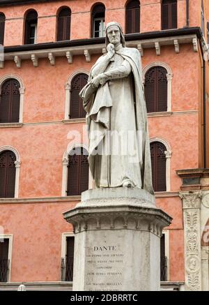
<path fill-rule="evenodd" d="M 74 262 L 74 237 L 67 237 L 67 253 L 66 253 L 66 276 L 65 281 L 72 281 L 73 278 L 73 262 Z"/>

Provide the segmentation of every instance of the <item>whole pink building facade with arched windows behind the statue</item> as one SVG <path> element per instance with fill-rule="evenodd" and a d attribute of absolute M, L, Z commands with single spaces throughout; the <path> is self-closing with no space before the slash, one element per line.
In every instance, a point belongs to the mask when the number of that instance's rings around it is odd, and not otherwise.
<path fill-rule="evenodd" d="M 0 290 L 72 288 L 63 212 L 93 186 L 78 93 L 111 21 L 141 54 L 153 186 L 173 218 L 162 290 L 209 290 L 208 0 L 1 0 Z"/>

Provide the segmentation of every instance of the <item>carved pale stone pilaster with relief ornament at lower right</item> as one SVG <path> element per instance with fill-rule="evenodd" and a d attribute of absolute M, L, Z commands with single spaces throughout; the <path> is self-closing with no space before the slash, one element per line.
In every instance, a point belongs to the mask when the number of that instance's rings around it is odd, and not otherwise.
<path fill-rule="evenodd" d="M 185 290 L 201 290 L 201 192 L 182 192 Z"/>

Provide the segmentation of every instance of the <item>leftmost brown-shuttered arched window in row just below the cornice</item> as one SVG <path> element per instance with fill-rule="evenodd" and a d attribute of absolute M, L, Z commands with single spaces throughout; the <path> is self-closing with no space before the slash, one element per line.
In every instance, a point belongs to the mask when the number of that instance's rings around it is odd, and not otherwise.
<path fill-rule="evenodd" d="M 15 79 L 6 80 L 1 87 L 0 123 L 19 122 L 20 83 Z"/>

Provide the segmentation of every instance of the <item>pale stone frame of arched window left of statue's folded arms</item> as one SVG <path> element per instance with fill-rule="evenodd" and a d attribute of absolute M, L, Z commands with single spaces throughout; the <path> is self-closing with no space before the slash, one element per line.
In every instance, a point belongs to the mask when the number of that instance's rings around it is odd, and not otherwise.
<path fill-rule="evenodd" d="M 67 82 L 65 83 L 65 121 L 73 121 L 73 120 L 79 120 L 79 121 L 84 121 L 84 119 L 69 119 L 69 113 L 70 113 L 70 94 L 71 94 L 71 83 L 73 78 L 80 73 L 85 73 L 86 75 L 89 75 L 89 70 L 86 69 L 78 69 L 70 76 L 68 77 Z"/>

